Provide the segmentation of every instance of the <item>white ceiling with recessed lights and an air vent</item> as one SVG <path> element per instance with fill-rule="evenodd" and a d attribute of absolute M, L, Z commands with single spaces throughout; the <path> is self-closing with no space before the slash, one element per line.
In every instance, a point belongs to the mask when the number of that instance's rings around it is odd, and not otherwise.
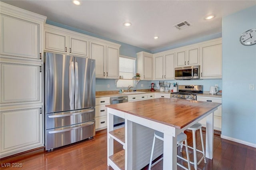
<path fill-rule="evenodd" d="M 1 0 L 48 20 L 148 50 L 220 33 L 222 17 L 256 5 L 256 0 Z M 204 20 L 208 14 L 216 17 Z M 192 25 L 177 30 L 174 25 Z M 124 27 L 124 22 L 132 26 Z M 159 39 L 154 40 L 154 36 Z"/>

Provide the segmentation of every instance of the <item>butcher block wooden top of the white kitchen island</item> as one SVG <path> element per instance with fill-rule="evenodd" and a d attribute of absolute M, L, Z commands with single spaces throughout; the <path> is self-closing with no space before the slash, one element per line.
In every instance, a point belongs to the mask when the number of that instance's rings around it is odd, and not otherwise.
<path fill-rule="evenodd" d="M 106 107 L 164 125 L 183 128 L 220 105 L 221 103 L 157 98 L 106 105 Z"/>

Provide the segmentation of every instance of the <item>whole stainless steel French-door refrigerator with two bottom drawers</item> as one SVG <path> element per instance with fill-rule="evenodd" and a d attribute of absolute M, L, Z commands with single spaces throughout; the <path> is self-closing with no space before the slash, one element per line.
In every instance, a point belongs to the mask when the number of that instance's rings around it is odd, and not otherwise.
<path fill-rule="evenodd" d="M 45 149 L 95 135 L 95 60 L 44 53 Z"/>

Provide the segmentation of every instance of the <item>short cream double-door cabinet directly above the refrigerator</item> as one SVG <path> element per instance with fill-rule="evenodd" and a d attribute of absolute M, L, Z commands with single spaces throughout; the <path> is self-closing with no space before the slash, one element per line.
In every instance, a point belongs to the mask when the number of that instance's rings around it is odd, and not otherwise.
<path fill-rule="evenodd" d="M 88 57 L 88 37 L 45 24 L 44 51 Z"/>

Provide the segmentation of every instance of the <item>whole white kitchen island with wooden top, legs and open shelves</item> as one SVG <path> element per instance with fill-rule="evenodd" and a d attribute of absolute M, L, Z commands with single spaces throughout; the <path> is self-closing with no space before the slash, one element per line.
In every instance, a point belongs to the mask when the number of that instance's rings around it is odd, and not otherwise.
<path fill-rule="evenodd" d="M 220 105 L 221 103 L 165 98 L 107 105 L 108 166 L 112 166 L 114 169 L 133 169 L 133 157 L 135 157 L 132 153 L 134 152 L 133 148 L 140 144 L 136 138 L 133 140 L 133 125 L 138 124 L 164 133 L 163 169 L 176 170 L 177 135 L 204 117 L 206 117 L 206 157 L 212 159 L 213 117 L 214 111 Z M 114 130 L 114 115 L 125 119 L 123 129 Z M 141 138 L 143 138 L 143 135 L 141 135 Z M 114 154 L 114 140 L 123 144 L 124 150 Z M 136 159 L 143 158 L 136 157 Z"/>

